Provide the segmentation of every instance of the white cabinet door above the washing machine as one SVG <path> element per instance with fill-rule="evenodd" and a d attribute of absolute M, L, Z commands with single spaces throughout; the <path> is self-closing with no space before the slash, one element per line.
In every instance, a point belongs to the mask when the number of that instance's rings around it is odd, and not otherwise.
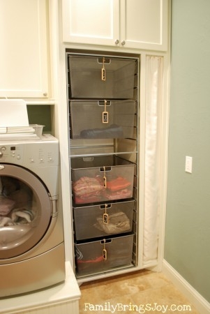
<path fill-rule="evenodd" d="M 0 0 L 0 97 L 45 98 L 45 0 Z"/>

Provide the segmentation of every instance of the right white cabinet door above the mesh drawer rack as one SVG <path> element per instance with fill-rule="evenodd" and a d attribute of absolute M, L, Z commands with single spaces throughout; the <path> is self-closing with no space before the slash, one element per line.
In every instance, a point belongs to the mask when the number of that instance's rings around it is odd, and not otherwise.
<path fill-rule="evenodd" d="M 167 50 L 168 0 L 121 0 L 124 47 Z"/>

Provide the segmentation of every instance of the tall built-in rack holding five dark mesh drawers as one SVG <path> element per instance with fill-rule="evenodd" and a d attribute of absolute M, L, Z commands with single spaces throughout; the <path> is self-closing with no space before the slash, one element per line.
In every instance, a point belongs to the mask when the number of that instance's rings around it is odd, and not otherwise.
<path fill-rule="evenodd" d="M 137 265 L 137 57 L 66 51 L 75 274 Z"/>

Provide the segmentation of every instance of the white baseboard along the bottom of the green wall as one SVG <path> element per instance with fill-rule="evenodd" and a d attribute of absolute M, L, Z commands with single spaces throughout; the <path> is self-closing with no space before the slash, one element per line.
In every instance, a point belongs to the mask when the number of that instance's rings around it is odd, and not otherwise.
<path fill-rule="evenodd" d="M 202 314 L 210 313 L 209 302 L 202 297 L 166 260 L 163 260 L 163 274 L 177 286 L 177 288 L 188 298 L 197 311 Z"/>

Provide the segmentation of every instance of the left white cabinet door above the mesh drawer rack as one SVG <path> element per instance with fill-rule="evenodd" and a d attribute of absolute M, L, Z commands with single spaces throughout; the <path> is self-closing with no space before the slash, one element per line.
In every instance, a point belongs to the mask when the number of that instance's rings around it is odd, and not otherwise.
<path fill-rule="evenodd" d="M 63 0 L 63 41 L 117 45 L 119 0 Z"/>

